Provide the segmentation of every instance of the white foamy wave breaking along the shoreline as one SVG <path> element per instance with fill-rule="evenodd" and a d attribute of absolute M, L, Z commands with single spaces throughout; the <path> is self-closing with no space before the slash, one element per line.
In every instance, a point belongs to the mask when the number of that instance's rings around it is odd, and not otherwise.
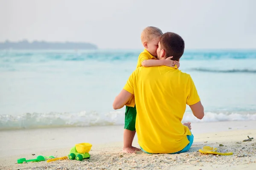
<path fill-rule="evenodd" d="M 191 112 L 186 112 L 183 122 L 220 122 L 256 120 L 255 112 L 206 112 L 204 119 L 196 119 Z M 123 125 L 124 113 L 112 111 L 108 113 L 24 113 L 21 115 L 0 115 L 0 130 L 30 129 L 49 127 L 87 127 Z"/>

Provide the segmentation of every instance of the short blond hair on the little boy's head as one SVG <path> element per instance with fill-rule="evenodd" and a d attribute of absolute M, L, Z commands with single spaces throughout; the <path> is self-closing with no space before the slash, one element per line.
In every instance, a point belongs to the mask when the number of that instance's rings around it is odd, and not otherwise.
<path fill-rule="evenodd" d="M 159 28 L 148 26 L 143 29 L 140 38 L 141 38 L 141 42 L 144 43 L 146 41 L 148 42 L 152 40 L 153 38 L 161 37 L 162 35 L 163 35 L 163 32 Z"/>

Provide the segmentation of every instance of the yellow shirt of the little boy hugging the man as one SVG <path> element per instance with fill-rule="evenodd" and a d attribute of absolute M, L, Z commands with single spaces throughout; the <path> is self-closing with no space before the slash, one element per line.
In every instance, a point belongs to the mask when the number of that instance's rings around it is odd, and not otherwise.
<path fill-rule="evenodd" d="M 147 59 L 157 59 L 157 58 L 152 56 L 152 54 L 150 54 L 146 49 L 144 49 L 144 51 L 141 52 L 139 57 L 138 57 L 137 68 L 142 67 L 141 63 L 144 60 L 147 60 Z M 135 98 L 132 97 L 125 105 L 134 108 L 134 106 L 135 106 Z"/>

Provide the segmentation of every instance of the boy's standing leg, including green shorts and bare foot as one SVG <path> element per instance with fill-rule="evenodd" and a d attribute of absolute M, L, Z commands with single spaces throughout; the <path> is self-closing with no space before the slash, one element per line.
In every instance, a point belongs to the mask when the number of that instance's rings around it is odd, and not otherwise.
<path fill-rule="evenodd" d="M 136 133 L 135 122 L 136 122 L 136 107 L 125 108 L 125 130 L 124 130 L 124 147 L 123 152 L 134 153 L 135 150 L 140 150 L 137 147 L 132 146 L 132 142 Z"/>

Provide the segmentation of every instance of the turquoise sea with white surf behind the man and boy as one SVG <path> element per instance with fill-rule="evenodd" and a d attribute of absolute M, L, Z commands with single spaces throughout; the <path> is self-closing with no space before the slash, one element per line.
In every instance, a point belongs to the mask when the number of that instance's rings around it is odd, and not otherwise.
<path fill-rule="evenodd" d="M 112 102 L 140 50 L 0 51 L 0 129 L 123 125 Z M 187 50 L 180 70 L 192 76 L 205 108 L 197 120 L 256 120 L 256 50 Z"/>

